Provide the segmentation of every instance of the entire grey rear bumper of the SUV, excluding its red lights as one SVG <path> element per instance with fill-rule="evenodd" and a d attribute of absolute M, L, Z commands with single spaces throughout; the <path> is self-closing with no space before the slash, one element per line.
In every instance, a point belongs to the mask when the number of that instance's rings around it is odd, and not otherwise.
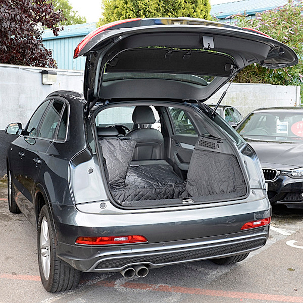
<path fill-rule="evenodd" d="M 74 206 L 50 204 L 56 254 L 85 272 L 115 272 L 130 265 L 149 268 L 253 251 L 265 245 L 269 226 L 241 230 L 271 216 L 265 191 L 247 203 L 208 208 L 118 215 L 90 214 Z M 75 244 L 77 237 L 142 235 L 148 242 L 120 245 Z"/>

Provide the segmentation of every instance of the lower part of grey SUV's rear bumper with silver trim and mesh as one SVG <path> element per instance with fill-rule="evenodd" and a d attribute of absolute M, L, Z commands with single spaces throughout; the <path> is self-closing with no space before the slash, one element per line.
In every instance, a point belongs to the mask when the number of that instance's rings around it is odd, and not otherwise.
<path fill-rule="evenodd" d="M 183 241 L 120 247 L 84 247 L 58 243 L 57 256 L 72 267 L 85 272 L 115 272 L 128 266 L 144 264 L 157 268 L 185 262 L 222 258 L 254 251 L 265 245 L 269 225 L 254 231 L 240 232 Z M 73 251 L 73 254 L 68 254 Z"/>

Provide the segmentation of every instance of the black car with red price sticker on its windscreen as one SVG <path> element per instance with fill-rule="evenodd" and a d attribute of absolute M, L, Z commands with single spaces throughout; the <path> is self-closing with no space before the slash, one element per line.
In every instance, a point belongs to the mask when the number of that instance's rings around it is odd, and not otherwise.
<path fill-rule="evenodd" d="M 303 208 L 303 108 L 259 108 L 236 130 L 257 152 L 271 203 Z"/>

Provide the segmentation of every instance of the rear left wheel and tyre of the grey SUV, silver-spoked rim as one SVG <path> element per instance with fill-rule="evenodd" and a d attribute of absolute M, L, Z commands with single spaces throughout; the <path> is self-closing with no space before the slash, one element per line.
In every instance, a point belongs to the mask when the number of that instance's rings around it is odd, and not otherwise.
<path fill-rule="evenodd" d="M 55 231 L 46 205 L 38 218 L 38 263 L 41 282 L 47 291 L 58 292 L 77 287 L 80 271 L 63 264 L 56 256 Z"/>

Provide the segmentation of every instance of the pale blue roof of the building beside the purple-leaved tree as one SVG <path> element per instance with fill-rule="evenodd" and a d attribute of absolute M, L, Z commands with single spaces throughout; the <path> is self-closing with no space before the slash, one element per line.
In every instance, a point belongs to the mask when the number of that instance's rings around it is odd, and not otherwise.
<path fill-rule="evenodd" d="M 59 32 L 59 36 L 55 37 L 52 30 L 46 30 L 42 35 L 42 40 L 59 39 L 66 37 L 86 36 L 88 33 L 96 29 L 96 22 L 82 23 L 64 26 L 63 31 Z"/>

